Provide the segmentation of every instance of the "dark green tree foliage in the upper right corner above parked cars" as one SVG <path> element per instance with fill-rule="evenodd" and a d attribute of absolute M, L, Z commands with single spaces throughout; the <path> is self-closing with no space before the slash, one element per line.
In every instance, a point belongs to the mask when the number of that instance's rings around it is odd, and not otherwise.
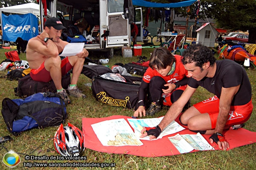
<path fill-rule="evenodd" d="M 218 28 L 249 31 L 248 43 L 256 42 L 256 0 L 200 0 L 200 3 L 201 14 L 214 18 Z"/>

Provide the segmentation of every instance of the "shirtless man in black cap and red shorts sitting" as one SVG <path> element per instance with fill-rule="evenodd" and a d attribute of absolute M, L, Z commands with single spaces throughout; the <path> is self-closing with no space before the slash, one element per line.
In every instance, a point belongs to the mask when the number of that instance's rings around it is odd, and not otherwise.
<path fill-rule="evenodd" d="M 79 75 L 84 65 L 84 59 L 88 51 L 83 49 L 75 56 L 69 56 L 61 60 L 59 54 L 68 42 L 60 39 L 61 32 L 66 29 L 56 17 L 47 19 L 45 29 L 41 35 L 29 40 L 26 48 L 26 60 L 31 68 L 30 76 L 34 81 L 49 82 L 53 80 L 60 95 L 65 102 L 70 103 L 67 92 L 61 86 L 61 77 L 73 68 L 71 84 L 68 86 L 70 96 L 85 98 L 81 90 L 76 86 Z"/>

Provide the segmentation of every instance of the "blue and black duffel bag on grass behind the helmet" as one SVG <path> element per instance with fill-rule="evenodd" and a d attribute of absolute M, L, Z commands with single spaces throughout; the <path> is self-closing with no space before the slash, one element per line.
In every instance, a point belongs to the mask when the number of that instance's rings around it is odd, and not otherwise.
<path fill-rule="evenodd" d="M 67 118 L 63 99 L 51 92 L 36 93 L 24 99 L 4 98 L 1 112 L 13 135 L 33 128 L 58 126 Z"/>

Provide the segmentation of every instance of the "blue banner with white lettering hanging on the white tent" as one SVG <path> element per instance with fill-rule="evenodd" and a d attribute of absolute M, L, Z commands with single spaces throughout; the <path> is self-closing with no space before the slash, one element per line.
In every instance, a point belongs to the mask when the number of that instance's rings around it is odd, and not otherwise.
<path fill-rule="evenodd" d="M 34 14 L 13 14 L 6 16 L 2 14 L 3 40 L 13 41 L 17 37 L 29 40 L 38 35 L 38 20 Z"/>

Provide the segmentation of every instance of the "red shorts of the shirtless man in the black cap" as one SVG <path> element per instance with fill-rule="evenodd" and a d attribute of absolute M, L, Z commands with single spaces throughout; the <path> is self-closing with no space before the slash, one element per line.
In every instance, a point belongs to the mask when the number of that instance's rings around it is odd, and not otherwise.
<path fill-rule="evenodd" d="M 72 69 L 72 68 L 73 68 L 73 66 L 71 66 L 67 57 L 64 58 L 63 60 L 61 60 L 61 75 L 62 76 L 67 74 L 67 72 L 69 72 L 70 69 Z M 42 63 L 38 69 L 31 69 L 29 75 L 34 81 L 49 82 L 52 80 L 50 72 L 48 72 L 44 67 L 44 63 Z"/>

